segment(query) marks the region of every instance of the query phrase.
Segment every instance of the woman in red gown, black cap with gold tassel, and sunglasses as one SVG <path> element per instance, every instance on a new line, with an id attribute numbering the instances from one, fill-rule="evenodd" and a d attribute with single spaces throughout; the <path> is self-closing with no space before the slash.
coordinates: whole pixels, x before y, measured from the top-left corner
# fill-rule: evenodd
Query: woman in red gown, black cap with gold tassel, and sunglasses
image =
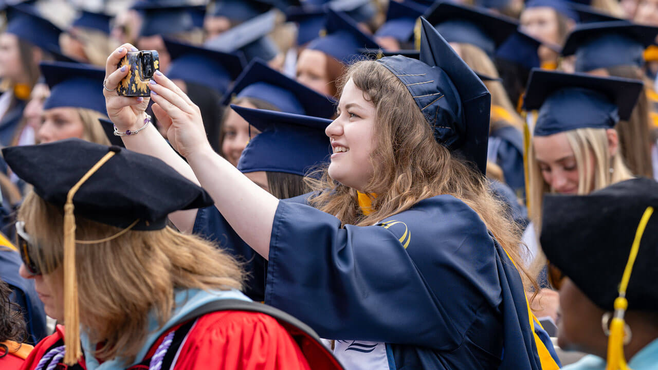
<path id="1" fill-rule="evenodd" d="M 312 330 L 238 291 L 232 257 L 166 226 L 212 199 L 162 161 L 78 139 L 3 156 L 34 186 L 16 223 L 20 273 L 65 325 L 24 369 L 340 369 Z"/>

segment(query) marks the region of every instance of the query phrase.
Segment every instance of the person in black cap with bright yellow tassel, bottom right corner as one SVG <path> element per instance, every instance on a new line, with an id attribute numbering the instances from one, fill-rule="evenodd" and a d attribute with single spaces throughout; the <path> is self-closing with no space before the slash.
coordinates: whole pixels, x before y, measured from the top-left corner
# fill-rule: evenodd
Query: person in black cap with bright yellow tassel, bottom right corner
<path id="1" fill-rule="evenodd" d="M 560 291 L 557 342 L 592 354 L 563 369 L 656 368 L 657 194 L 654 180 L 635 178 L 544 199 L 542 248 Z"/>

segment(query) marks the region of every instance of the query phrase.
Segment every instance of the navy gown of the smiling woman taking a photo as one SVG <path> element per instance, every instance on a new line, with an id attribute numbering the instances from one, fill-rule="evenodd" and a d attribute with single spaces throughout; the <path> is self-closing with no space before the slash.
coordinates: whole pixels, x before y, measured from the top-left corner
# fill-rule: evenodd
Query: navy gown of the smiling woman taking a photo
<path id="1" fill-rule="evenodd" d="M 519 273 L 463 201 L 340 225 L 279 203 L 267 304 L 324 338 L 385 342 L 390 368 L 541 369 Z"/>

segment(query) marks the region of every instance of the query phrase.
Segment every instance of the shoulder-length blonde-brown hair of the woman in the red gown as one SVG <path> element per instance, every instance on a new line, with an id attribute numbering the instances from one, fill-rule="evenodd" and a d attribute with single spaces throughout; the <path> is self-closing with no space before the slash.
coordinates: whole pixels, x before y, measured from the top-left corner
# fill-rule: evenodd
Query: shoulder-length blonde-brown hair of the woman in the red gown
<path id="1" fill-rule="evenodd" d="M 63 284 L 63 209 L 30 192 L 18 209 L 19 221 L 39 246 L 34 259 L 44 273 Z M 76 218 L 76 240 L 99 240 L 119 228 Z M 213 244 L 170 227 L 128 232 L 97 244 L 76 244 L 80 323 L 94 356 L 132 362 L 143 346 L 149 313 L 159 325 L 170 319 L 174 290 L 241 288 L 236 261 Z"/>

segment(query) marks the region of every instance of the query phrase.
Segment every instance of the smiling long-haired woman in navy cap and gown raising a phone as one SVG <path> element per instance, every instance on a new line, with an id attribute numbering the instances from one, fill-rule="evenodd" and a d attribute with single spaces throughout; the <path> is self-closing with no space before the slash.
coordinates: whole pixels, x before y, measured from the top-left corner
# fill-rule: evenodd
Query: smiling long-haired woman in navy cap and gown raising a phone
<path id="1" fill-rule="evenodd" d="M 130 140 L 209 189 L 268 259 L 265 301 L 336 339 L 347 369 L 557 369 L 528 314 L 515 226 L 484 178 L 490 95 L 421 21 L 420 61 L 349 69 L 325 130 L 330 165 L 309 179 L 317 208 L 279 201 L 213 153 L 194 106 L 164 75 L 151 99 L 189 167 L 164 143 L 151 146 L 153 130 Z M 112 87 L 121 74 L 108 72 Z M 118 103 L 108 98 L 111 119 L 130 130 L 132 109 Z"/>

